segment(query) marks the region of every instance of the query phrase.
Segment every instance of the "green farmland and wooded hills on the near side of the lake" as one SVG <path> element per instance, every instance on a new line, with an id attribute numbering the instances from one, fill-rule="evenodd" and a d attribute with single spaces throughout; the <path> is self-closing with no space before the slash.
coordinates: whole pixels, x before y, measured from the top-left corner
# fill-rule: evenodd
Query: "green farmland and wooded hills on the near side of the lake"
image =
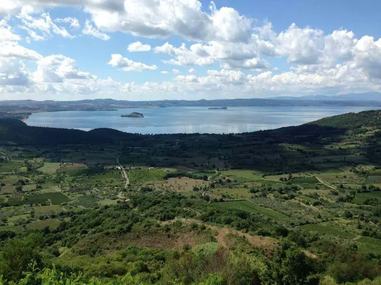
<path id="1" fill-rule="evenodd" d="M 0 284 L 379 285 L 380 116 L 155 136 L 0 119 Z"/>

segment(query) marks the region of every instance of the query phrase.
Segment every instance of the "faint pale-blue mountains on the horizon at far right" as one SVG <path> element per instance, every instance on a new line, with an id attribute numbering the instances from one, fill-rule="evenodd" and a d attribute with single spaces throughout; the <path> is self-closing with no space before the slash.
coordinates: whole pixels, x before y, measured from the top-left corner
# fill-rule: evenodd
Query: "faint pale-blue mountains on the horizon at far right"
<path id="1" fill-rule="evenodd" d="M 271 97 L 273 100 L 303 100 L 303 101 L 381 101 L 381 93 L 365 92 L 365 93 L 348 93 L 343 95 L 307 95 L 301 97 L 277 96 Z"/>

